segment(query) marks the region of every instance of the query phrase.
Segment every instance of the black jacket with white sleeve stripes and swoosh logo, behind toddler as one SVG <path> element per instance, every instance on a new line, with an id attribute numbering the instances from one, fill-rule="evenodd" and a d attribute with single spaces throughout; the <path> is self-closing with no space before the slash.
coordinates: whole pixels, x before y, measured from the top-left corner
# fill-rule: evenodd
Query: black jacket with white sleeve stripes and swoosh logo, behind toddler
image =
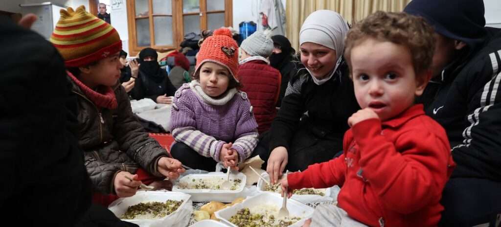
<path id="1" fill-rule="evenodd" d="M 452 177 L 501 181 L 501 30 L 432 80 L 420 101 L 446 130 L 457 167 Z"/>

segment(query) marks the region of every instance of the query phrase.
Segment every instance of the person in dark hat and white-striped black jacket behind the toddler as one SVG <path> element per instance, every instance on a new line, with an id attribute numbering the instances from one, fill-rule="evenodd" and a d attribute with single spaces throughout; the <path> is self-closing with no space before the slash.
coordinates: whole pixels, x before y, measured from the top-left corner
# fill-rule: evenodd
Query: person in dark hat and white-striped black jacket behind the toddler
<path id="1" fill-rule="evenodd" d="M 493 224 L 501 213 L 501 30 L 484 27 L 481 0 L 414 0 L 404 11 L 436 32 L 434 78 L 421 101 L 445 128 L 457 163 L 440 224 Z"/>

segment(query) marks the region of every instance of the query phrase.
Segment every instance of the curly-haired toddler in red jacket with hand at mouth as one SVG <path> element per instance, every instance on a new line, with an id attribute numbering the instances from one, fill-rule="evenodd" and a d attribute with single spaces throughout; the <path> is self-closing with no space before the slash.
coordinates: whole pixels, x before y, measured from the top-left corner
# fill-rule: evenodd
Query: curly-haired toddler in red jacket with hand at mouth
<path id="1" fill-rule="evenodd" d="M 348 119 L 344 152 L 282 180 L 289 191 L 341 186 L 337 205 L 317 206 L 305 226 L 438 223 L 455 165 L 444 129 L 414 104 L 433 50 L 431 27 L 405 13 L 376 12 L 349 31 L 345 57 L 362 109 Z"/>

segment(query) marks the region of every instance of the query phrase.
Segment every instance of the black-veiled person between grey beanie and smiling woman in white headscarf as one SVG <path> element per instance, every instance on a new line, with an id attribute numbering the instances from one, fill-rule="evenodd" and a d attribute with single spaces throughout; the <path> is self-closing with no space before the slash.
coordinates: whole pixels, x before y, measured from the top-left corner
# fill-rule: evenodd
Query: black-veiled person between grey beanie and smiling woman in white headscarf
<path id="1" fill-rule="evenodd" d="M 273 53 L 270 56 L 270 65 L 278 69 L 282 75 L 282 83 L 280 84 L 280 94 L 279 100 L 277 101 L 277 107 L 282 105 L 282 99 L 285 96 L 285 91 L 287 90 L 287 85 L 296 73 L 298 69 L 294 61 L 299 61 L 296 59 L 296 50 L 292 48 L 291 42 L 282 35 L 272 36 L 273 40 Z"/>

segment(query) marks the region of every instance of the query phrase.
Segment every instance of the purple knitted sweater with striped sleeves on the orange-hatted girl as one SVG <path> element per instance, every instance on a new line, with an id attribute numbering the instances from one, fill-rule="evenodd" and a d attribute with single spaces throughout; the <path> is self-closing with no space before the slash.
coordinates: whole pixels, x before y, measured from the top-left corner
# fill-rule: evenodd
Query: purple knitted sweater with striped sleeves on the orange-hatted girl
<path id="1" fill-rule="evenodd" d="M 219 161 L 221 147 L 232 142 L 238 161 L 258 144 L 258 123 L 244 92 L 228 90 L 224 97 L 206 95 L 198 81 L 183 84 L 174 95 L 170 116 L 172 136 L 200 155 Z"/>

